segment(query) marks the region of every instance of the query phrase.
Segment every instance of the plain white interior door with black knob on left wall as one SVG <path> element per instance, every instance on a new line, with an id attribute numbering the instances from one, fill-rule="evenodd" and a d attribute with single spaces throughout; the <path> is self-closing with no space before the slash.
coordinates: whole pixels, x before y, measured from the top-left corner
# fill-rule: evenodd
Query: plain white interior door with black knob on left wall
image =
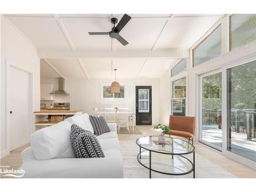
<path id="1" fill-rule="evenodd" d="M 10 68 L 10 151 L 28 143 L 29 74 Z"/>

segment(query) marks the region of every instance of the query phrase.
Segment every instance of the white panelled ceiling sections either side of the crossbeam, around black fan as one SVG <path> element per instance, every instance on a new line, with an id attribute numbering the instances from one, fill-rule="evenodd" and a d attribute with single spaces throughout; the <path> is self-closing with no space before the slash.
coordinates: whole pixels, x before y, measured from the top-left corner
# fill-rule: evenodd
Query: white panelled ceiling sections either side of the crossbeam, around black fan
<path id="1" fill-rule="evenodd" d="M 108 35 L 88 32 L 111 30 L 111 17 L 123 14 L 15 14 L 4 15 L 38 51 L 188 50 L 223 15 L 129 14 L 120 34 L 122 46 Z M 41 77 L 159 78 L 177 58 L 42 58 Z"/>

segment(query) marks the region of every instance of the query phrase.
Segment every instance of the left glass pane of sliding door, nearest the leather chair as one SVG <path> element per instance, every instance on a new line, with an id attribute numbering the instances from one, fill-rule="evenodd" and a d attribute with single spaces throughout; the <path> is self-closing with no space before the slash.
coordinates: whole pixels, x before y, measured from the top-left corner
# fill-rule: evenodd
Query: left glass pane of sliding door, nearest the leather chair
<path id="1" fill-rule="evenodd" d="M 200 138 L 209 146 L 222 147 L 222 73 L 200 76 Z"/>

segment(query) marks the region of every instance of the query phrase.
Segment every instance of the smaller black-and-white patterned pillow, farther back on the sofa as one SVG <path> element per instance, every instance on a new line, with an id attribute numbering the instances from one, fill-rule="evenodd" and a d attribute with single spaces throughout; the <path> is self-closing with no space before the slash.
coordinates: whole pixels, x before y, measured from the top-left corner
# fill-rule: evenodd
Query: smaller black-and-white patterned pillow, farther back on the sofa
<path id="1" fill-rule="evenodd" d="M 100 116 L 100 117 L 94 117 L 90 115 L 90 121 L 93 125 L 93 129 L 94 129 L 94 134 L 95 135 L 101 135 L 103 133 L 108 133 L 110 132 L 110 127 L 108 125 L 108 123 L 106 123 L 105 119 Z"/>

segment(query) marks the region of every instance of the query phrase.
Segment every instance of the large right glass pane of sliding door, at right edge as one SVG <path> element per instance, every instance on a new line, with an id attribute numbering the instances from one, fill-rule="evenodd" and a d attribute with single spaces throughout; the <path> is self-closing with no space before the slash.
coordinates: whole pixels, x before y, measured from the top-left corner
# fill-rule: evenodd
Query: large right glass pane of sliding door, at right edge
<path id="1" fill-rule="evenodd" d="M 227 69 L 227 150 L 256 161 L 256 61 Z"/>

